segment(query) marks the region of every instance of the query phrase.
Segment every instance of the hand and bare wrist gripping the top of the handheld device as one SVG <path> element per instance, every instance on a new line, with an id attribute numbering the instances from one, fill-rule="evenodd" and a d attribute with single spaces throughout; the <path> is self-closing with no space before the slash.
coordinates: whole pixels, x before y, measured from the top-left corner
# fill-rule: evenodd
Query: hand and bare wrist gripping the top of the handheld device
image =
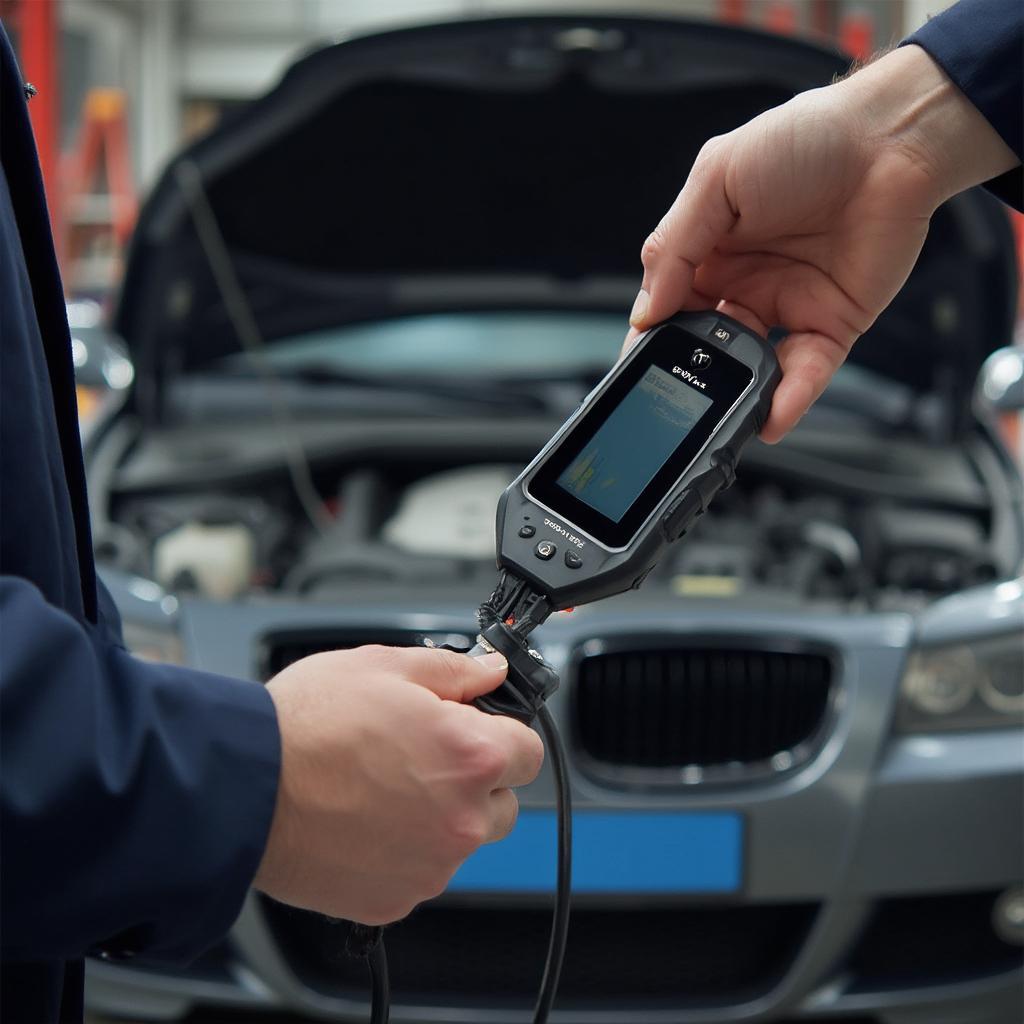
<path id="1" fill-rule="evenodd" d="M 784 327 L 777 441 L 902 287 L 936 207 L 1017 163 L 918 46 L 802 93 L 700 151 L 644 244 L 626 347 L 679 309 Z"/>

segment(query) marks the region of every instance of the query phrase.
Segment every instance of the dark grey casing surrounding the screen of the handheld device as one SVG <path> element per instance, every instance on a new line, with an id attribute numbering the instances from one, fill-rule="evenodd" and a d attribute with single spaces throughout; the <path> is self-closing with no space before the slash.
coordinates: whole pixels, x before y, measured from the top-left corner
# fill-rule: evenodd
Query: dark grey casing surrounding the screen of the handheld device
<path id="1" fill-rule="evenodd" d="M 666 325 L 646 332 L 626 358 L 584 400 L 538 457 L 506 488 L 498 503 L 498 564 L 546 595 L 556 609 L 587 604 L 623 591 L 636 589 L 657 564 L 665 549 L 679 540 L 703 514 L 719 490 L 728 487 L 743 445 L 764 426 L 772 395 L 782 372 L 771 345 L 741 324 L 714 311 L 683 312 L 666 324 L 681 328 L 705 348 L 717 348 L 748 366 L 754 381 L 731 414 L 722 422 L 683 477 L 656 506 L 633 543 L 623 551 L 610 551 L 569 522 L 534 502 L 527 494 L 529 481 L 548 453 L 565 432 L 596 401 L 632 358 L 640 355 L 644 341 Z M 726 343 L 716 337 L 728 338 Z M 548 520 L 548 522 L 546 522 Z M 555 523 L 557 527 L 549 525 Z M 536 532 L 520 537 L 523 526 Z M 583 541 L 580 547 L 569 537 Z M 550 542 L 554 557 L 537 557 L 537 546 Z M 565 553 L 579 556 L 574 568 L 565 563 Z"/>

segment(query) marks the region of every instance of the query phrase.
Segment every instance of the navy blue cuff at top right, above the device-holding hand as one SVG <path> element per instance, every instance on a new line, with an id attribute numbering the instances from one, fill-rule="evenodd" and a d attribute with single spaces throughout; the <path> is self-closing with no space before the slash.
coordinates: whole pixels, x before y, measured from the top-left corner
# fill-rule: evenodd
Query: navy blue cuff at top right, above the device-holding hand
<path id="1" fill-rule="evenodd" d="M 1002 140 L 1024 160 L 1024 0 L 961 0 L 902 45 L 914 43 L 959 87 Z M 1024 170 L 986 187 L 1024 210 Z"/>

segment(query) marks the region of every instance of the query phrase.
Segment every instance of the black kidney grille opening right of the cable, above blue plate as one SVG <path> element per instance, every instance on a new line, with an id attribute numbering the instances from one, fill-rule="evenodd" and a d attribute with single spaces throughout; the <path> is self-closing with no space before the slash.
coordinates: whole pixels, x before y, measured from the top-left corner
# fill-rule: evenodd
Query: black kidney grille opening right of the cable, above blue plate
<path id="1" fill-rule="evenodd" d="M 816 652 L 612 650 L 577 667 L 573 728 L 593 761 L 648 769 L 770 762 L 819 732 L 831 663 Z"/>

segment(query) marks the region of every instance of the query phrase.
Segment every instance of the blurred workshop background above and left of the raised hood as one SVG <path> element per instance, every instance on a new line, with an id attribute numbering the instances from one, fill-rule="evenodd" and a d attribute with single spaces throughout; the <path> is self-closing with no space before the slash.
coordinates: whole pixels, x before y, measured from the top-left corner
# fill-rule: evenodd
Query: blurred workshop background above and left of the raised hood
<path id="1" fill-rule="evenodd" d="M 386 28 L 525 10 L 669 14 L 831 42 L 856 57 L 945 0 L 0 0 L 26 77 L 70 297 L 119 282 L 138 203 L 168 158 L 302 52 Z"/>

